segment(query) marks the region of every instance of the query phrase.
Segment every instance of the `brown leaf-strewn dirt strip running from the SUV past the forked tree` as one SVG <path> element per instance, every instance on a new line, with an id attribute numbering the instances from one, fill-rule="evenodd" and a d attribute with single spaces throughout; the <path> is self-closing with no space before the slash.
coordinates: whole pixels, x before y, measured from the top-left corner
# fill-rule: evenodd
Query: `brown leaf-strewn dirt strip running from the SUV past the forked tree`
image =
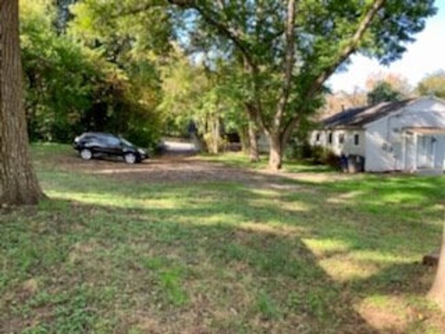
<path id="1" fill-rule="evenodd" d="M 120 159 L 93 159 L 84 161 L 75 153 L 58 156 L 51 164 L 53 168 L 77 170 L 90 175 L 111 177 L 123 181 L 136 182 L 238 182 L 245 185 L 263 186 L 266 188 L 289 189 L 302 185 L 289 184 L 289 180 L 304 183 L 324 183 L 351 179 L 351 175 L 340 173 L 314 172 L 280 172 L 275 174 L 268 170 L 253 170 L 227 166 L 219 162 L 208 162 L 199 157 L 165 155 L 147 159 L 141 164 L 129 165 Z M 354 176 L 357 177 L 357 176 Z"/>

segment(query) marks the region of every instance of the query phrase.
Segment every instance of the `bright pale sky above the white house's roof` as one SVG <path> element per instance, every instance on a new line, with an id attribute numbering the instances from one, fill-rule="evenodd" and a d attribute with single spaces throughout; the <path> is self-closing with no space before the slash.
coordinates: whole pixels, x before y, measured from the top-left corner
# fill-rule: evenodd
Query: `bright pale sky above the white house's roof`
<path id="1" fill-rule="evenodd" d="M 375 60 L 357 55 L 348 71 L 333 75 L 328 84 L 334 91 L 351 92 L 355 86 L 364 88 L 366 79 L 373 73 L 398 73 L 416 86 L 425 75 L 445 70 L 445 0 L 436 0 L 437 14 L 427 19 L 425 29 L 415 36 L 416 42 L 407 45 L 401 60 L 390 66 L 381 66 Z"/>

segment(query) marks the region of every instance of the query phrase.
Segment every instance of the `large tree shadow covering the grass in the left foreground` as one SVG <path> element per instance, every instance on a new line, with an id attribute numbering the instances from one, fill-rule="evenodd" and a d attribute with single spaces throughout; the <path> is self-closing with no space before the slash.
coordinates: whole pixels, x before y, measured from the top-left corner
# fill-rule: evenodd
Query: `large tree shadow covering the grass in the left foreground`
<path id="1" fill-rule="evenodd" d="M 0 332 L 376 333 L 300 238 L 212 209 L 52 199 L 3 216 Z"/>

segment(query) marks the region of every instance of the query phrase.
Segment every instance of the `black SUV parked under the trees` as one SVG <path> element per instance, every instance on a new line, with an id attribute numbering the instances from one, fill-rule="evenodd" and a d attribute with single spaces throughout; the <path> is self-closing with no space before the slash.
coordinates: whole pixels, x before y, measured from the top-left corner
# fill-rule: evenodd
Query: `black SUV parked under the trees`
<path id="1" fill-rule="evenodd" d="M 86 132 L 77 136 L 73 142 L 74 149 L 80 157 L 90 160 L 99 155 L 116 155 L 123 157 L 127 164 L 134 164 L 147 159 L 147 152 L 131 144 L 128 140 L 110 133 Z"/>

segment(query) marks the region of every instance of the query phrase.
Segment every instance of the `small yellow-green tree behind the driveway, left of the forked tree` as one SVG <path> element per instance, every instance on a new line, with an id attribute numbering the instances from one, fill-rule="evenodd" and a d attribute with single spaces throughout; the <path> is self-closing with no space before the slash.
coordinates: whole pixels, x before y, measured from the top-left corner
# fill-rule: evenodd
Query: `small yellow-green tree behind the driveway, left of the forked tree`
<path id="1" fill-rule="evenodd" d="M 181 132 L 192 121 L 202 144 L 211 153 L 223 148 L 223 130 L 239 131 L 242 126 L 240 99 L 227 75 L 231 75 L 231 70 L 225 62 L 216 61 L 212 69 L 202 63 L 192 64 L 177 45 L 162 66 L 160 110 L 166 123 L 170 129 Z"/>

